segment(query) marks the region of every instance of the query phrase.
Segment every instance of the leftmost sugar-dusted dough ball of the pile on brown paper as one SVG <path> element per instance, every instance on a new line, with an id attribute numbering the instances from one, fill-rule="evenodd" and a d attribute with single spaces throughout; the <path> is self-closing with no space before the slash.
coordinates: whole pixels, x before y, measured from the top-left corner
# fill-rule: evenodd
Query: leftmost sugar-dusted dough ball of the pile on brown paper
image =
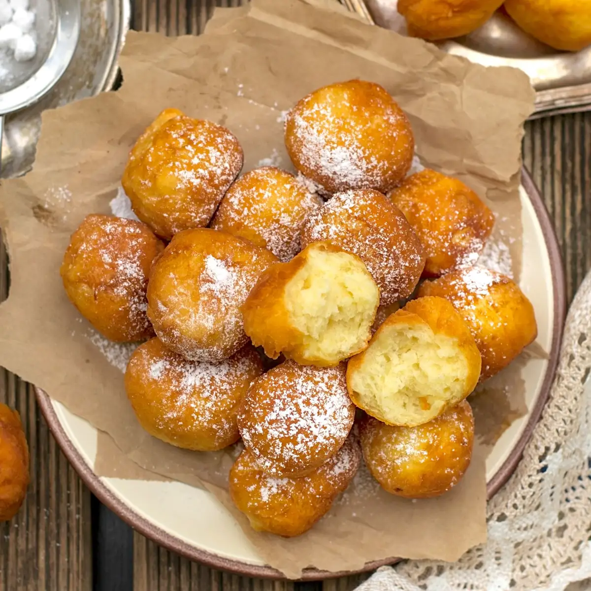
<path id="1" fill-rule="evenodd" d="M 87 216 L 72 234 L 61 264 L 66 294 L 108 339 L 148 339 L 154 335 L 146 316 L 148 273 L 163 249 L 144 223 Z"/>

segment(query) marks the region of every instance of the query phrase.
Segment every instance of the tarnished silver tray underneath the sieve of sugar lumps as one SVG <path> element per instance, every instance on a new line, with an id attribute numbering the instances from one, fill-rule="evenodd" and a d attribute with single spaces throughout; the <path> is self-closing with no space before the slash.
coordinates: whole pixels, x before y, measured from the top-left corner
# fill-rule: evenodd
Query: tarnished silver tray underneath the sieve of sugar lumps
<path id="1" fill-rule="evenodd" d="M 7 118 L 2 177 L 19 176 L 32 167 L 42 111 L 109 90 L 117 79 L 129 29 L 129 0 L 80 0 L 80 12 L 80 37 L 64 75 L 40 102 Z"/>

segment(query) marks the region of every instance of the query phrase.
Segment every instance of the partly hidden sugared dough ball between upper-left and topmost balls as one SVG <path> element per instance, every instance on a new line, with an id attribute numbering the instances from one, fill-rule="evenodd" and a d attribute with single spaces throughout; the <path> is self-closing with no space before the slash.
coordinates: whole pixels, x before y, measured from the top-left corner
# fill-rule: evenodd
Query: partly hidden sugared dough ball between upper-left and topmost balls
<path id="1" fill-rule="evenodd" d="M 264 166 L 232 184 L 211 227 L 247 238 L 280 261 L 289 261 L 300 252 L 300 231 L 307 216 L 322 203 L 293 174 Z"/>

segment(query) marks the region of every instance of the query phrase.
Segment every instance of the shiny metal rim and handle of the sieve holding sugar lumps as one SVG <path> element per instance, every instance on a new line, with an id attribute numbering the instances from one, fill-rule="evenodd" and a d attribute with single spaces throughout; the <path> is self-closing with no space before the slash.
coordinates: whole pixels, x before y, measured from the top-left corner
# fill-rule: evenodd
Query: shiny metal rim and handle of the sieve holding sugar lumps
<path id="1" fill-rule="evenodd" d="M 30 64 L 19 64 L 18 72 L 0 92 L 0 163 L 5 116 L 33 105 L 46 95 L 72 60 L 80 34 L 80 3 L 78 0 L 40 2 L 37 23 L 40 40 L 37 59 Z"/>

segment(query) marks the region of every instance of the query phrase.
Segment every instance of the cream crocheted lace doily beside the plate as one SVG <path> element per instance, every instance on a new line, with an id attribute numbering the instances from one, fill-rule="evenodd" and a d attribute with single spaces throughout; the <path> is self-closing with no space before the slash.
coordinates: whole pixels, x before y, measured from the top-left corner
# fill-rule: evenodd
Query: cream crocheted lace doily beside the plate
<path id="1" fill-rule="evenodd" d="M 540 423 L 517 470 L 489 501 L 487 543 L 457 563 L 384 567 L 359 591 L 563 591 L 591 578 L 590 372 L 591 273 L 569 311 Z"/>

